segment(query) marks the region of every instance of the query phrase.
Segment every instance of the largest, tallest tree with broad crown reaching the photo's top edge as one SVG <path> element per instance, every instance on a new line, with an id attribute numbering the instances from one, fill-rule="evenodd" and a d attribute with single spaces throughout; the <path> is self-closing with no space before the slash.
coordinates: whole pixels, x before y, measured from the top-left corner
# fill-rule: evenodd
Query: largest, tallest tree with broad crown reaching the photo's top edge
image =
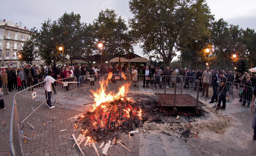
<path id="1" fill-rule="evenodd" d="M 213 15 L 205 0 L 131 0 L 130 9 L 135 43 L 144 55 L 161 55 L 166 66 L 188 40 L 210 35 Z"/>

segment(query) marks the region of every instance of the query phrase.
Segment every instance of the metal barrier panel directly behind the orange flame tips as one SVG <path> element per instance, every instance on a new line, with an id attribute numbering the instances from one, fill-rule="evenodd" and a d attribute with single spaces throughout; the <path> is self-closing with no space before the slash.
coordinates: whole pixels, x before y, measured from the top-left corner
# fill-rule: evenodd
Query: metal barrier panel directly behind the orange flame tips
<path id="1" fill-rule="evenodd" d="M 107 80 L 108 77 L 110 80 L 108 80 L 108 82 L 104 81 L 105 85 L 107 85 L 107 83 L 109 85 L 127 85 L 132 81 L 130 74 L 105 74 L 104 80 Z"/>

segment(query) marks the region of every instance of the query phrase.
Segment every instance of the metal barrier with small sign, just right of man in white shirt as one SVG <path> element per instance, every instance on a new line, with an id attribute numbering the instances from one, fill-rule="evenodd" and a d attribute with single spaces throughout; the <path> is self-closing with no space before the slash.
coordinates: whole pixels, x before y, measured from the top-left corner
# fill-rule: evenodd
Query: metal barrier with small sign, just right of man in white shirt
<path id="1" fill-rule="evenodd" d="M 76 82 L 76 77 L 67 77 L 64 79 L 59 79 L 57 81 L 63 81 L 65 83 L 64 85 L 62 85 L 61 83 L 53 83 L 52 84 L 52 92 L 51 92 L 51 97 L 52 99 L 54 99 L 55 101 L 53 102 L 53 104 L 56 102 L 56 100 L 59 101 L 59 97 L 64 96 L 66 94 L 72 93 L 71 96 L 76 93 L 76 89 L 77 89 L 77 84 L 78 83 L 68 83 L 68 82 Z M 78 95 L 77 95 L 78 96 Z M 59 101 L 60 102 L 60 101 Z M 61 103 L 61 102 L 60 102 Z"/>

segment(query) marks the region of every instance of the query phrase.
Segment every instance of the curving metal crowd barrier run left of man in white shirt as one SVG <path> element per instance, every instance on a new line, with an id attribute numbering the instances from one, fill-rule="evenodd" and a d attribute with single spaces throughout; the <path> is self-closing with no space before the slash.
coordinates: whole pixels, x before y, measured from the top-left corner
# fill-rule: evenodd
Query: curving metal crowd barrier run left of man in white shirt
<path id="1" fill-rule="evenodd" d="M 25 121 L 34 129 L 28 122 L 28 117 L 36 112 L 40 106 L 46 104 L 48 97 L 45 94 L 44 84 L 41 82 L 14 95 L 9 138 L 11 155 L 23 156 L 20 137 L 24 138 L 25 136 L 23 136 L 24 132 L 21 129 L 24 127 Z M 20 128 L 19 124 L 23 124 L 23 126 Z"/>

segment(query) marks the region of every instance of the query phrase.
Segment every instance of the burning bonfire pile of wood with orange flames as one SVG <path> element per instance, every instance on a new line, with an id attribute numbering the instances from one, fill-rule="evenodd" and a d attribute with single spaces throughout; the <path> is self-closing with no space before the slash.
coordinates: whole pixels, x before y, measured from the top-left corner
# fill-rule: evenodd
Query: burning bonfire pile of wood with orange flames
<path id="1" fill-rule="evenodd" d="M 79 116 L 73 125 L 75 129 L 81 128 L 80 133 L 97 141 L 113 139 L 121 130 L 132 130 L 133 123 L 138 125 L 142 120 L 139 103 L 125 97 L 130 84 L 120 87 L 116 94 L 106 93 L 106 86 L 103 82 L 100 84 L 99 90 L 91 90 L 95 104 Z"/>

